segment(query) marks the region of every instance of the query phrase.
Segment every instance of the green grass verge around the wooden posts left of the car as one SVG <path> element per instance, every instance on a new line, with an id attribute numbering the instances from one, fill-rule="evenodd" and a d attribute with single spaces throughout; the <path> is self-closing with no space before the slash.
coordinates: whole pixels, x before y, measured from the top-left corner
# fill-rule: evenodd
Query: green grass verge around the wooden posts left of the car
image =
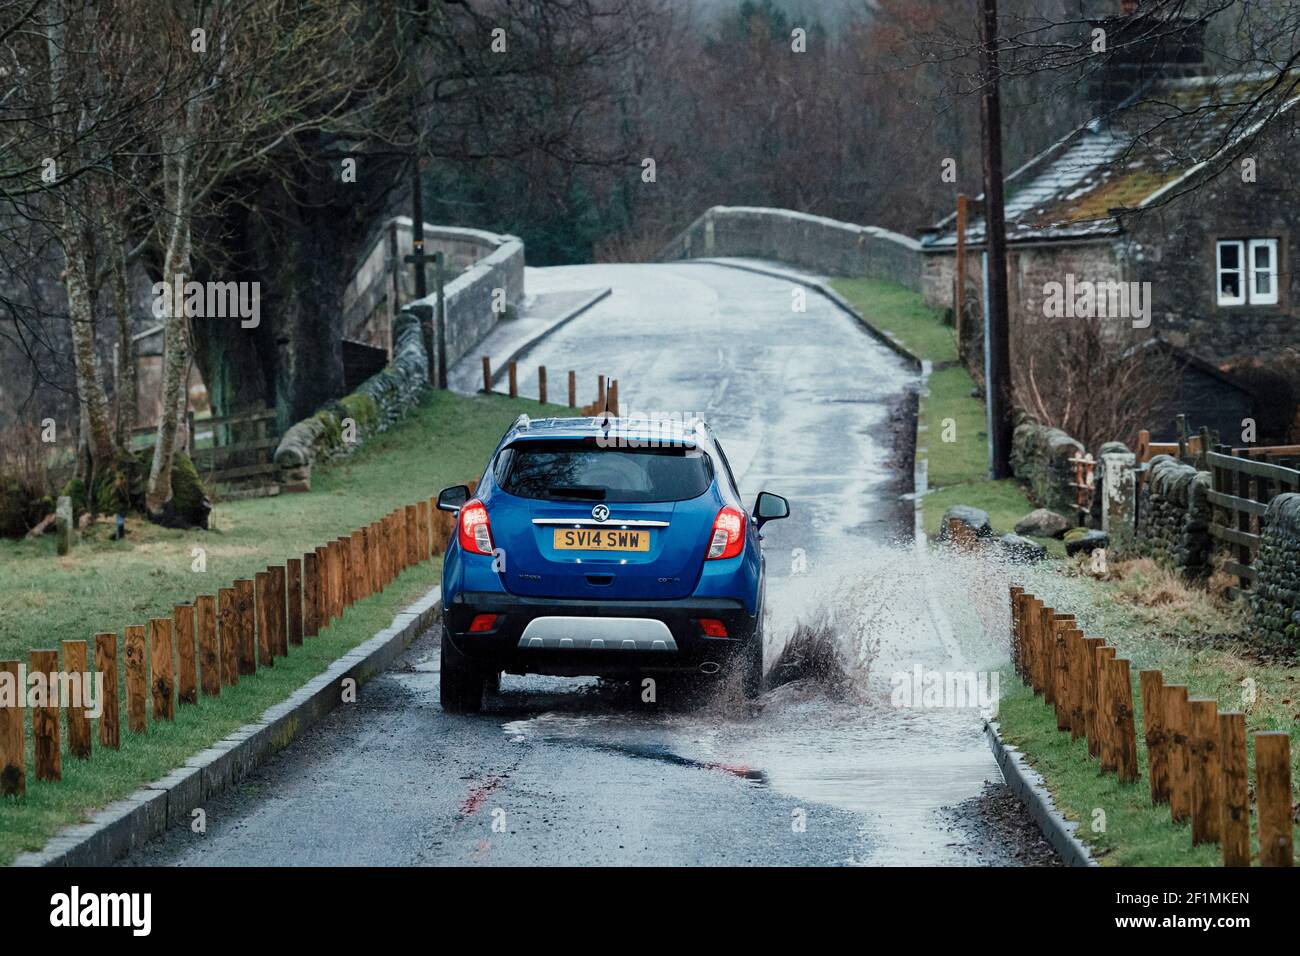
<path id="1" fill-rule="evenodd" d="M 51 540 L 0 542 L 0 658 L 27 659 L 34 648 L 88 640 L 99 631 L 170 617 L 177 604 L 216 593 L 237 578 L 300 555 L 368 524 L 399 505 L 477 477 L 504 429 L 521 412 L 566 414 L 559 406 L 499 395 L 465 398 L 433 393 L 398 425 L 351 458 L 316 468 L 309 494 L 217 505 L 212 531 L 173 531 L 131 522 L 122 541 L 107 527 L 92 529 L 73 551 L 57 557 Z M 196 572 L 194 549 L 205 551 Z M 172 723 L 151 722 L 148 734 L 122 731 L 120 750 L 96 747 L 90 761 L 66 750 L 64 779 L 39 783 L 27 740 L 27 795 L 0 804 L 0 865 L 39 849 L 60 829 L 164 777 L 188 757 L 259 717 L 320 674 L 341 654 L 386 627 L 393 615 L 438 580 L 441 562 L 410 568 L 294 648 L 289 658 L 224 688 L 217 698 L 177 709 Z M 125 652 L 118 643 L 118 659 Z M 125 701 L 125 688 L 120 687 Z M 30 718 L 29 718 L 30 726 Z M 66 727 L 62 740 L 66 744 Z M 98 740 L 96 740 L 98 743 Z"/>

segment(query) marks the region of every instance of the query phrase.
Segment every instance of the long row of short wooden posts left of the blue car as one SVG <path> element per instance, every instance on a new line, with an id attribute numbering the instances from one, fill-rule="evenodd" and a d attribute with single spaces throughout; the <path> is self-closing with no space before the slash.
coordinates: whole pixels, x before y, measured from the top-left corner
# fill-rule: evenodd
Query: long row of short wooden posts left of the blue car
<path id="1" fill-rule="evenodd" d="M 473 489 L 477 483 L 471 481 Z M 304 639 L 317 636 L 358 601 L 384 591 L 407 568 L 446 550 L 455 518 L 437 510 L 437 497 L 390 511 L 377 522 L 329 541 L 300 558 L 272 564 L 216 594 L 177 605 L 170 617 L 126 628 L 122 654 L 117 635 L 95 635 L 94 671 L 87 641 L 62 643 L 58 650 L 32 650 L 31 678 L 46 691 L 31 708 L 36 780 L 62 778 L 62 757 L 90 760 L 91 723 L 81 687 L 104 678 L 99 745 L 120 749 L 122 708 L 126 728 L 143 735 L 150 724 L 173 721 L 178 706 L 203 706 L 239 684 L 240 678 L 273 667 Z M 0 661 L 0 674 L 17 682 L 18 661 Z M 126 696 L 121 700 L 125 680 Z M 25 688 L 12 705 L 0 704 L 0 796 L 27 790 Z M 148 705 L 148 706 L 147 706 Z M 146 713 L 148 710 L 148 714 Z M 66 748 L 60 740 L 60 711 L 66 718 Z M 131 737 L 125 739 L 130 744 Z"/>

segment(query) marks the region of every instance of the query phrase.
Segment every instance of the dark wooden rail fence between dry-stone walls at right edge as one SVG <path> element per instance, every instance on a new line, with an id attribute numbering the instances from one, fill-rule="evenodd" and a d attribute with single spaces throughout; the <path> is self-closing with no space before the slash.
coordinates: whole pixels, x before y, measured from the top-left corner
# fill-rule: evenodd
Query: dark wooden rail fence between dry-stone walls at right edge
<path id="1" fill-rule="evenodd" d="M 1242 451 L 1219 445 L 1205 455 L 1212 479 L 1210 503 L 1219 511 L 1210 523 L 1210 536 L 1232 555 L 1223 562 L 1223 570 L 1236 575 L 1238 587 L 1228 589 L 1234 597 L 1254 585 L 1254 558 L 1269 502 L 1277 494 L 1300 492 L 1300 471 Z"/>

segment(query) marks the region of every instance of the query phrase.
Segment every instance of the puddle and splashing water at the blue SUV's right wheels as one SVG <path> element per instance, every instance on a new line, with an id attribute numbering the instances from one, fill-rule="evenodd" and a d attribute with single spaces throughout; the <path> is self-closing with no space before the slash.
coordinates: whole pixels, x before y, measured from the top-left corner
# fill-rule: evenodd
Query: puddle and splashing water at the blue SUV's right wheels
<path id="1" fill-rule="evenodd" d="M 858 862 L 978 865 L 978 844 L 953 829 L 945 808 L 1001 780 L 979 709 L 892 706 L 890 697 L 896 675 L 918 665 L 924 672 L 996 670 L 1005 648 L 985 635 L 1006 632 L 998 617 L 1006 583 L 1005 570 L 978 559 L 910 548 L 879 548 L 852 566 L 774 578 L 774 609 L 805 609 L 805 622 L 806 609 L 823 609 L 845 663 L 846 693 L 842 684 L 832 696 L 824 684 L 798 680 L 764 693 L 758 708 L 722 700 L 672 713 L 642 710 L 634 693 L 611 689 L 618 685 L 538 685 L 538 678 L 520 685 L 507 676 L 494 704 L 515 711 L 503 723 L 515 740 L 724 770 L 796 800 L 859 813 L 867 852 Z M 800 619 L 768 620 L 770 662 Z M 809 826 L 815 819 L 810 812 Z"/>

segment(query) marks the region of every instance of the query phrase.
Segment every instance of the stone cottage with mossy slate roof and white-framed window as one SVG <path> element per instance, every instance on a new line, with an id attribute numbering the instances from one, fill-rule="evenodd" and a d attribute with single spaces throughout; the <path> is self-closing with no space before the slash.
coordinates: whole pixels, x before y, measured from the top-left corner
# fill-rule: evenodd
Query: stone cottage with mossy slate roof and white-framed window
<path id="1" fill-rule="evenodd" d="M 1258 418 L 1258 441 L 1297 441 L 1300 77 L 1209 75 L 1187 59 L 1145 64 L 1127 90 L 1112 77 L 1105 96 L 1093 91 L 1098 118 L 1008 176 L 1013 362 L 1035 320 L 1062 315 L 1062 290 L 1069 310 L 1075 290 L 1091 284 L 1112 315 L 1148 310 L 1134 328 L 1183 356 L 1174 392 L 1192 397 L 1184 411 L 1193 424 L 1236 444 L 1248 412 Z M 1196 72 L 1170 75 L 1188 70 Z M 976 304 L 978 209 L 976 202 L 966 229 L 967 300 Z M 953 304 L 956 247 L 956 215 L 922 237 L 931 306 Z M 1091 312 L 1098 313 L 1106 315 Z M 1166 427 L 1153 423 L 1156 432 Z"/>

